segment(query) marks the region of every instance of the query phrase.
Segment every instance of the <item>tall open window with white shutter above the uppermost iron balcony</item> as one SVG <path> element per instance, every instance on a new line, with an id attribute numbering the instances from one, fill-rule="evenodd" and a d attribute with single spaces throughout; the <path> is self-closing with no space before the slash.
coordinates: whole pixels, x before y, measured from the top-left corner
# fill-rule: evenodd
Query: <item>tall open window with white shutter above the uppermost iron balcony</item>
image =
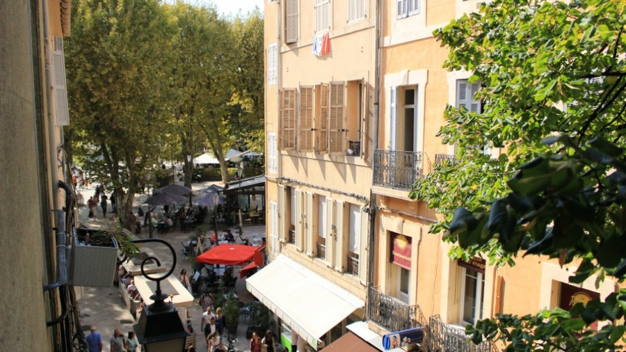
<path id="1" fill-rule="evenodd" d="M 392 87 L 390 150 L 418 152 L 417 86 Z"/>

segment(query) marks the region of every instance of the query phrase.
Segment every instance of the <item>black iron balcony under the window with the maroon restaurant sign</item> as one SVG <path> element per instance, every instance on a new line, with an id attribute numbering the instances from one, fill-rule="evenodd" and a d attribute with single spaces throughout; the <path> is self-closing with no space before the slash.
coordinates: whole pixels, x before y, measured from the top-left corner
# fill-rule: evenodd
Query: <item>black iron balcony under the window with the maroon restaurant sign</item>
<path id="1" fill-rule="evenodd" d="M 387 331 L 399 331 L 426 325 L 419 305 L 408 305 L 370 287 L 367 298 L 367 320 Z"/>

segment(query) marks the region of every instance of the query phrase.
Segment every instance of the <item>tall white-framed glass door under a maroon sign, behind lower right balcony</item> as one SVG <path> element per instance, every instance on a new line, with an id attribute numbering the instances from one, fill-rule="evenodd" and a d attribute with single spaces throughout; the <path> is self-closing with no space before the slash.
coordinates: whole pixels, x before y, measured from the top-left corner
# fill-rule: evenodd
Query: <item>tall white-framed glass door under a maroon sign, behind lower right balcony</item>
<path id="1" fill-rule="evenodd" d="M 485 275 L 479 271 L 463 268 L 461 287 L 461 321 L 474 325 L 483 316 L 483 291 Z"/>

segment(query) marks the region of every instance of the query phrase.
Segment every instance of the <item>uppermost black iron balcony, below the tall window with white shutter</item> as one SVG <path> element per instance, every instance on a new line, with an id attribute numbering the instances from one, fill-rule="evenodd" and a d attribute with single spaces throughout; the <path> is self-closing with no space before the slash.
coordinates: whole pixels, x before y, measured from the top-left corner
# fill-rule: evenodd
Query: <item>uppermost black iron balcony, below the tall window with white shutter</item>
<path id="1" fill-rule="evenodd" d="M 422 152 L 374 150 L 374 186 L 409 190 L 422 177 Z"/>

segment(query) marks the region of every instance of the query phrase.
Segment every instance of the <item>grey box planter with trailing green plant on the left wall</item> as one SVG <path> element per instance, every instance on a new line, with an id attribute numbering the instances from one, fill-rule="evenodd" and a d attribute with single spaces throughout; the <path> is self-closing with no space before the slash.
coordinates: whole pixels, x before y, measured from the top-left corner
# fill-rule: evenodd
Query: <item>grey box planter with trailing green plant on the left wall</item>
<path id="1" fill-rule="evenodd" d="M 77 228 L 72 243 L 72 285 L 113 286 L 118 250 L 126 257 L 139 253 L 139 247 L 121 226 L 109 230 Z"/>

